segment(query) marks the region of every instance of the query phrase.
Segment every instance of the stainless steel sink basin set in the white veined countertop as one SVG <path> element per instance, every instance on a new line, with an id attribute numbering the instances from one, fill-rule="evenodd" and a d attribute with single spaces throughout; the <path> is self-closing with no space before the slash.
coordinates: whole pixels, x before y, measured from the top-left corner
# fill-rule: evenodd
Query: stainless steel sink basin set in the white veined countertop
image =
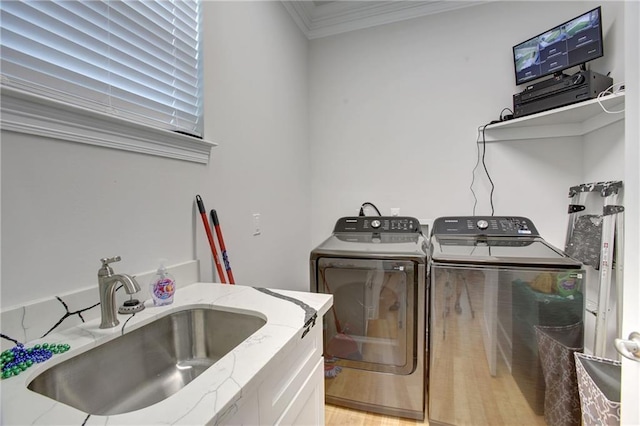
<path id="1" fill-rule="evenodd" d="M 51 367 L 28 388 L 88 414 L 128 413 L 178 392 L 264 324 L 210 308 L 174 312 Z"/>

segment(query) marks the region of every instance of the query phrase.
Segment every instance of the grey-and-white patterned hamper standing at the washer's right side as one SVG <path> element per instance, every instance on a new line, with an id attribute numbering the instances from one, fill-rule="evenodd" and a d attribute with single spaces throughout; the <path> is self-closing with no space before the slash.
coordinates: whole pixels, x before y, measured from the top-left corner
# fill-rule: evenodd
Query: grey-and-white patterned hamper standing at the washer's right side
<path id="1" fill-rule="evenodd" d="M 584 426 L 620 424 L 621 363 L 576 352 Z"/>

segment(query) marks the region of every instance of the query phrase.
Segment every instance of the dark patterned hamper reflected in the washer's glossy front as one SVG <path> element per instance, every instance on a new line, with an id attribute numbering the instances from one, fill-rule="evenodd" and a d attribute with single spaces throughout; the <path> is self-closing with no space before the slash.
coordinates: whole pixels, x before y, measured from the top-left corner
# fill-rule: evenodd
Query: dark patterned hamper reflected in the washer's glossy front
<path id="1" fill-rule="evenodd" d="M 544 420 L 553 426 L 580 426 L 574 353 L 584 348 L 583 322 L 534 328 L 545 382 Z"/>

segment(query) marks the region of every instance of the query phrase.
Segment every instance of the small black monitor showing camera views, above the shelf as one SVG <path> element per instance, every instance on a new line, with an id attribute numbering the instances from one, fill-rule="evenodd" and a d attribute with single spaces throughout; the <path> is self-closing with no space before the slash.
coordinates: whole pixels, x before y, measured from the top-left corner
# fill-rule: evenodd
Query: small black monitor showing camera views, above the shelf
<path id="1" fill-rule="evenodd" d="M 600 7 L 513 46 L 516 85 L 525 84 L 601 57 Z"/>

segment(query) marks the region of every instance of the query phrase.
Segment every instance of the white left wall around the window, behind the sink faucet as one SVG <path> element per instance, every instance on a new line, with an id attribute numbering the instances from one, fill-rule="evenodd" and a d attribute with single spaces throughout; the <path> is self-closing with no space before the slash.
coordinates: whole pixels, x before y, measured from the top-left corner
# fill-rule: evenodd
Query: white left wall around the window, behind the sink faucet
<path id="1" fill-rule="evenodd" d="M 2 309 L 97 297 L 105 256 L 124 273 L 200 258 L 211 280 L 196 194 L 218 210 L 237 283 L 308 288 L 306 39 L 279 2 L 207 2 L 204 27 L 206 136 L 220 144 L 207 166 L 2 132 Z"/>

